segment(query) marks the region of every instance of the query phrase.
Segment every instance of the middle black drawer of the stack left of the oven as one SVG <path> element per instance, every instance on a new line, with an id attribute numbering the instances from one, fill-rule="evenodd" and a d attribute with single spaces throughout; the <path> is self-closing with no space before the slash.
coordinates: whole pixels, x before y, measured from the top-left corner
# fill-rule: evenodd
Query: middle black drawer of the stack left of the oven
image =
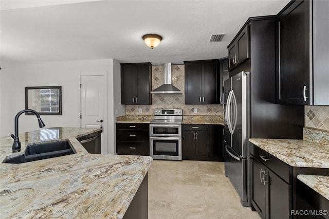
<path id="1" fill-rule="evenodd" d="M 117 130 L 118 141 L 149 141 L 148 130 Z"/>

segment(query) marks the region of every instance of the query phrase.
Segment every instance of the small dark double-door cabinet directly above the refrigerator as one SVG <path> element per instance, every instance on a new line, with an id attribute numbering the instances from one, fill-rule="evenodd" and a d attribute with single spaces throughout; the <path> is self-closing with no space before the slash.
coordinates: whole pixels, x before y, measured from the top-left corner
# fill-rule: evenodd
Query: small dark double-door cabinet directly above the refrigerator
<path id="1" fill-rule="evenodd" d="M 249 58 L 248 27 L 243 28 L 228 45 L 229 70 Z"/>

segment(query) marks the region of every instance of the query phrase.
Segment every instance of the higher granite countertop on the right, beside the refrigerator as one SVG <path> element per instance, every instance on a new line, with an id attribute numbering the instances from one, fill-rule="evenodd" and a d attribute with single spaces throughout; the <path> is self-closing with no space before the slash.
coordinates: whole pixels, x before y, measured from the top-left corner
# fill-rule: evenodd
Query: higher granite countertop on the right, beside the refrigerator
<path id="1" fill-rule="evenodd" d="M 329 168 L 329 145 L 296 139 L 249 141 L 292 167 Z"/>

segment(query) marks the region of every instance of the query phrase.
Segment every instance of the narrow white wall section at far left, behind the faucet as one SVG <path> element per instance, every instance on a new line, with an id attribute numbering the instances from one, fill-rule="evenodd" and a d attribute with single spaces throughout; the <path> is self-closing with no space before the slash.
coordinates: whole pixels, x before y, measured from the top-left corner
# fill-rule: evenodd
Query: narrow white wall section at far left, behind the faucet
<path id="1" fill-rule="evenodd" d="M 1 60 L 0 70 L 0 136 L 14 133 L 15 66 Z"/>

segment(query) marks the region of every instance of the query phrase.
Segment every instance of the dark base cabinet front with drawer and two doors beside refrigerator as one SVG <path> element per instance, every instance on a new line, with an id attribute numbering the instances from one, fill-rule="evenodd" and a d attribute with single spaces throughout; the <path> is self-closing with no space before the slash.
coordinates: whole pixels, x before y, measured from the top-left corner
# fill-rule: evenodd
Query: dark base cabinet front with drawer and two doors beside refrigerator
<path id="1" fill-rule="evenodd" d="M 262 218 L 291 218 L 292 191 L 289 184 L 291 168 L 258 148 L 253 148 L 251 153 L 252 207 Z"/>

